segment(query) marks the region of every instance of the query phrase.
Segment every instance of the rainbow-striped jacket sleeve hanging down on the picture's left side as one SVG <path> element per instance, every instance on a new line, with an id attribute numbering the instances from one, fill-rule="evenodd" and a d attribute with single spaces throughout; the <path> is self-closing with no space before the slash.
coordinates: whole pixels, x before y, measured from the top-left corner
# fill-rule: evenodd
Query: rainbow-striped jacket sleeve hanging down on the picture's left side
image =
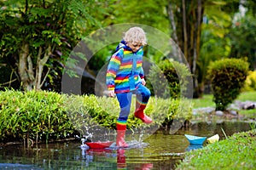
<path id="1" fill-rule="evenodd" d="M 108 90 L 114 90 L 115 88 L 114 79 L 116 77 L 117 72 L 119 71 L 123 54 L 124 50 L 123 48 L 120 48 L 116 53 L 112 55 L 111 59 L 109 60 L 106 75 L 106 83 Z"/>

